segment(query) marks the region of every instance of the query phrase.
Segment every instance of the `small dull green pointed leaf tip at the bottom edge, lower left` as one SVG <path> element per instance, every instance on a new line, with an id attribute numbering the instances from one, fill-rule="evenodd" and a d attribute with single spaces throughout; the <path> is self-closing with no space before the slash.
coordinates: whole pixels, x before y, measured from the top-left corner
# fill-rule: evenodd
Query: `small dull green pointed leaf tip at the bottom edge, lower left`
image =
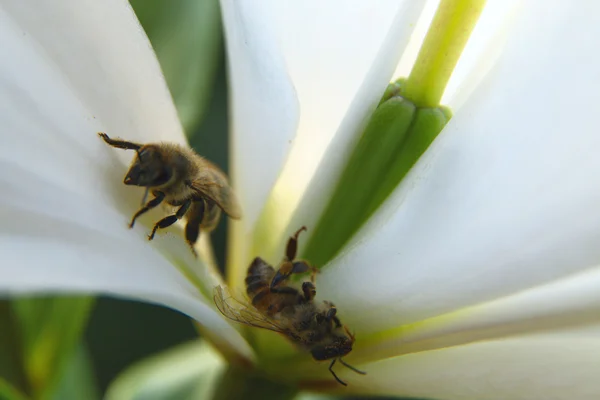
<path id="1" fill-rule="evenodd" d="M 53 400 L 68 399 L 100 399 L 100 394 L 94 379 L 94 370 L 89 353 L 80 344 L 71 355 L 62 373 L 57 389 L 52 395 Z"/>

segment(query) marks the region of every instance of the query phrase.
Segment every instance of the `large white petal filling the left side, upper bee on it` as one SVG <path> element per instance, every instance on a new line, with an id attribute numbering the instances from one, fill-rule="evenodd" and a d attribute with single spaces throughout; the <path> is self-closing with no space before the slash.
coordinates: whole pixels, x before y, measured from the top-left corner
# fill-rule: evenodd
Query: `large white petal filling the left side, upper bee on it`
<path id="1" fill-rule="evenodd" d="M 169 119 L 158 110 L 173 107 L 128 4 L 73 1 L 25 9 L 18 2 L 0 8 L 0 293 L 102 292 L 163 304 L 251 356 L 245 340 L 201 296 L 199 288 L 212 290 L 214 281 L 183 240 L 157 237 L 152 246 L 142 224 L 127 229 L 141 191 L 121 183 L 119 152 L 96 132 L 110 127 L 128 138 L 179 137 L 174 111 Z M 107 20 L 133 39 L 98 35 Z M 124 62 L 127 51 L 139 58 Z M 134 71 L 141 78 L 130 82 Z M 137 85 L 141 93 L 128 92 Z M 109 94 L 118 99 L 111 103 Z M 152 99 L 136 101 L 139 95 Z M 157 130 L 161 126 L 166 129 Z M 197 276 L 186 277 L 177 266 Z M 190 279 L 200 277 L 207 278 L 204 286 L 194 286 Z"/>

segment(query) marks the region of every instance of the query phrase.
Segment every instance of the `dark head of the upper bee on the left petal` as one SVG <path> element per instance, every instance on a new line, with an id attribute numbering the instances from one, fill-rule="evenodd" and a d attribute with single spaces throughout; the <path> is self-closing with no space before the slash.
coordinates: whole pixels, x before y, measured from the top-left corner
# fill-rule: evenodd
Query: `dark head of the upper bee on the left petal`
<path id="1" fill-rule="evenodd" d="M 153 187 L 169 181 L 171 172 L 162 159 L 159 149 L 152 145 L 137 150 L 123 183 L 126 185 Z"/>

